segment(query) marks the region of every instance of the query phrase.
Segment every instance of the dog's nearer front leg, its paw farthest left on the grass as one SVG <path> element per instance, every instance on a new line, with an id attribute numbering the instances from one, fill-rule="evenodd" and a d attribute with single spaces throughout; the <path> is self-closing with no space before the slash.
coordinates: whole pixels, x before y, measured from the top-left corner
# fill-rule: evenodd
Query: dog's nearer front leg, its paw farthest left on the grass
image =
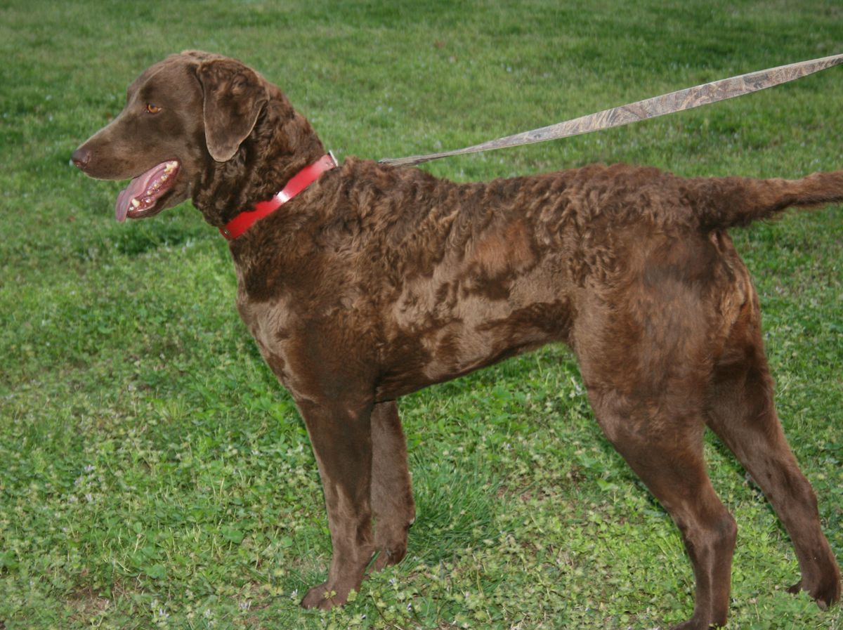
<path id="1" fill-rule="evenodd" d="M 372 401 L 299 401 L 314 448 L 328 508 L 333 556 L 328 579 L 302 606 L 342 606 L 360 588 L 375 545 L 372 533 Z"/>

